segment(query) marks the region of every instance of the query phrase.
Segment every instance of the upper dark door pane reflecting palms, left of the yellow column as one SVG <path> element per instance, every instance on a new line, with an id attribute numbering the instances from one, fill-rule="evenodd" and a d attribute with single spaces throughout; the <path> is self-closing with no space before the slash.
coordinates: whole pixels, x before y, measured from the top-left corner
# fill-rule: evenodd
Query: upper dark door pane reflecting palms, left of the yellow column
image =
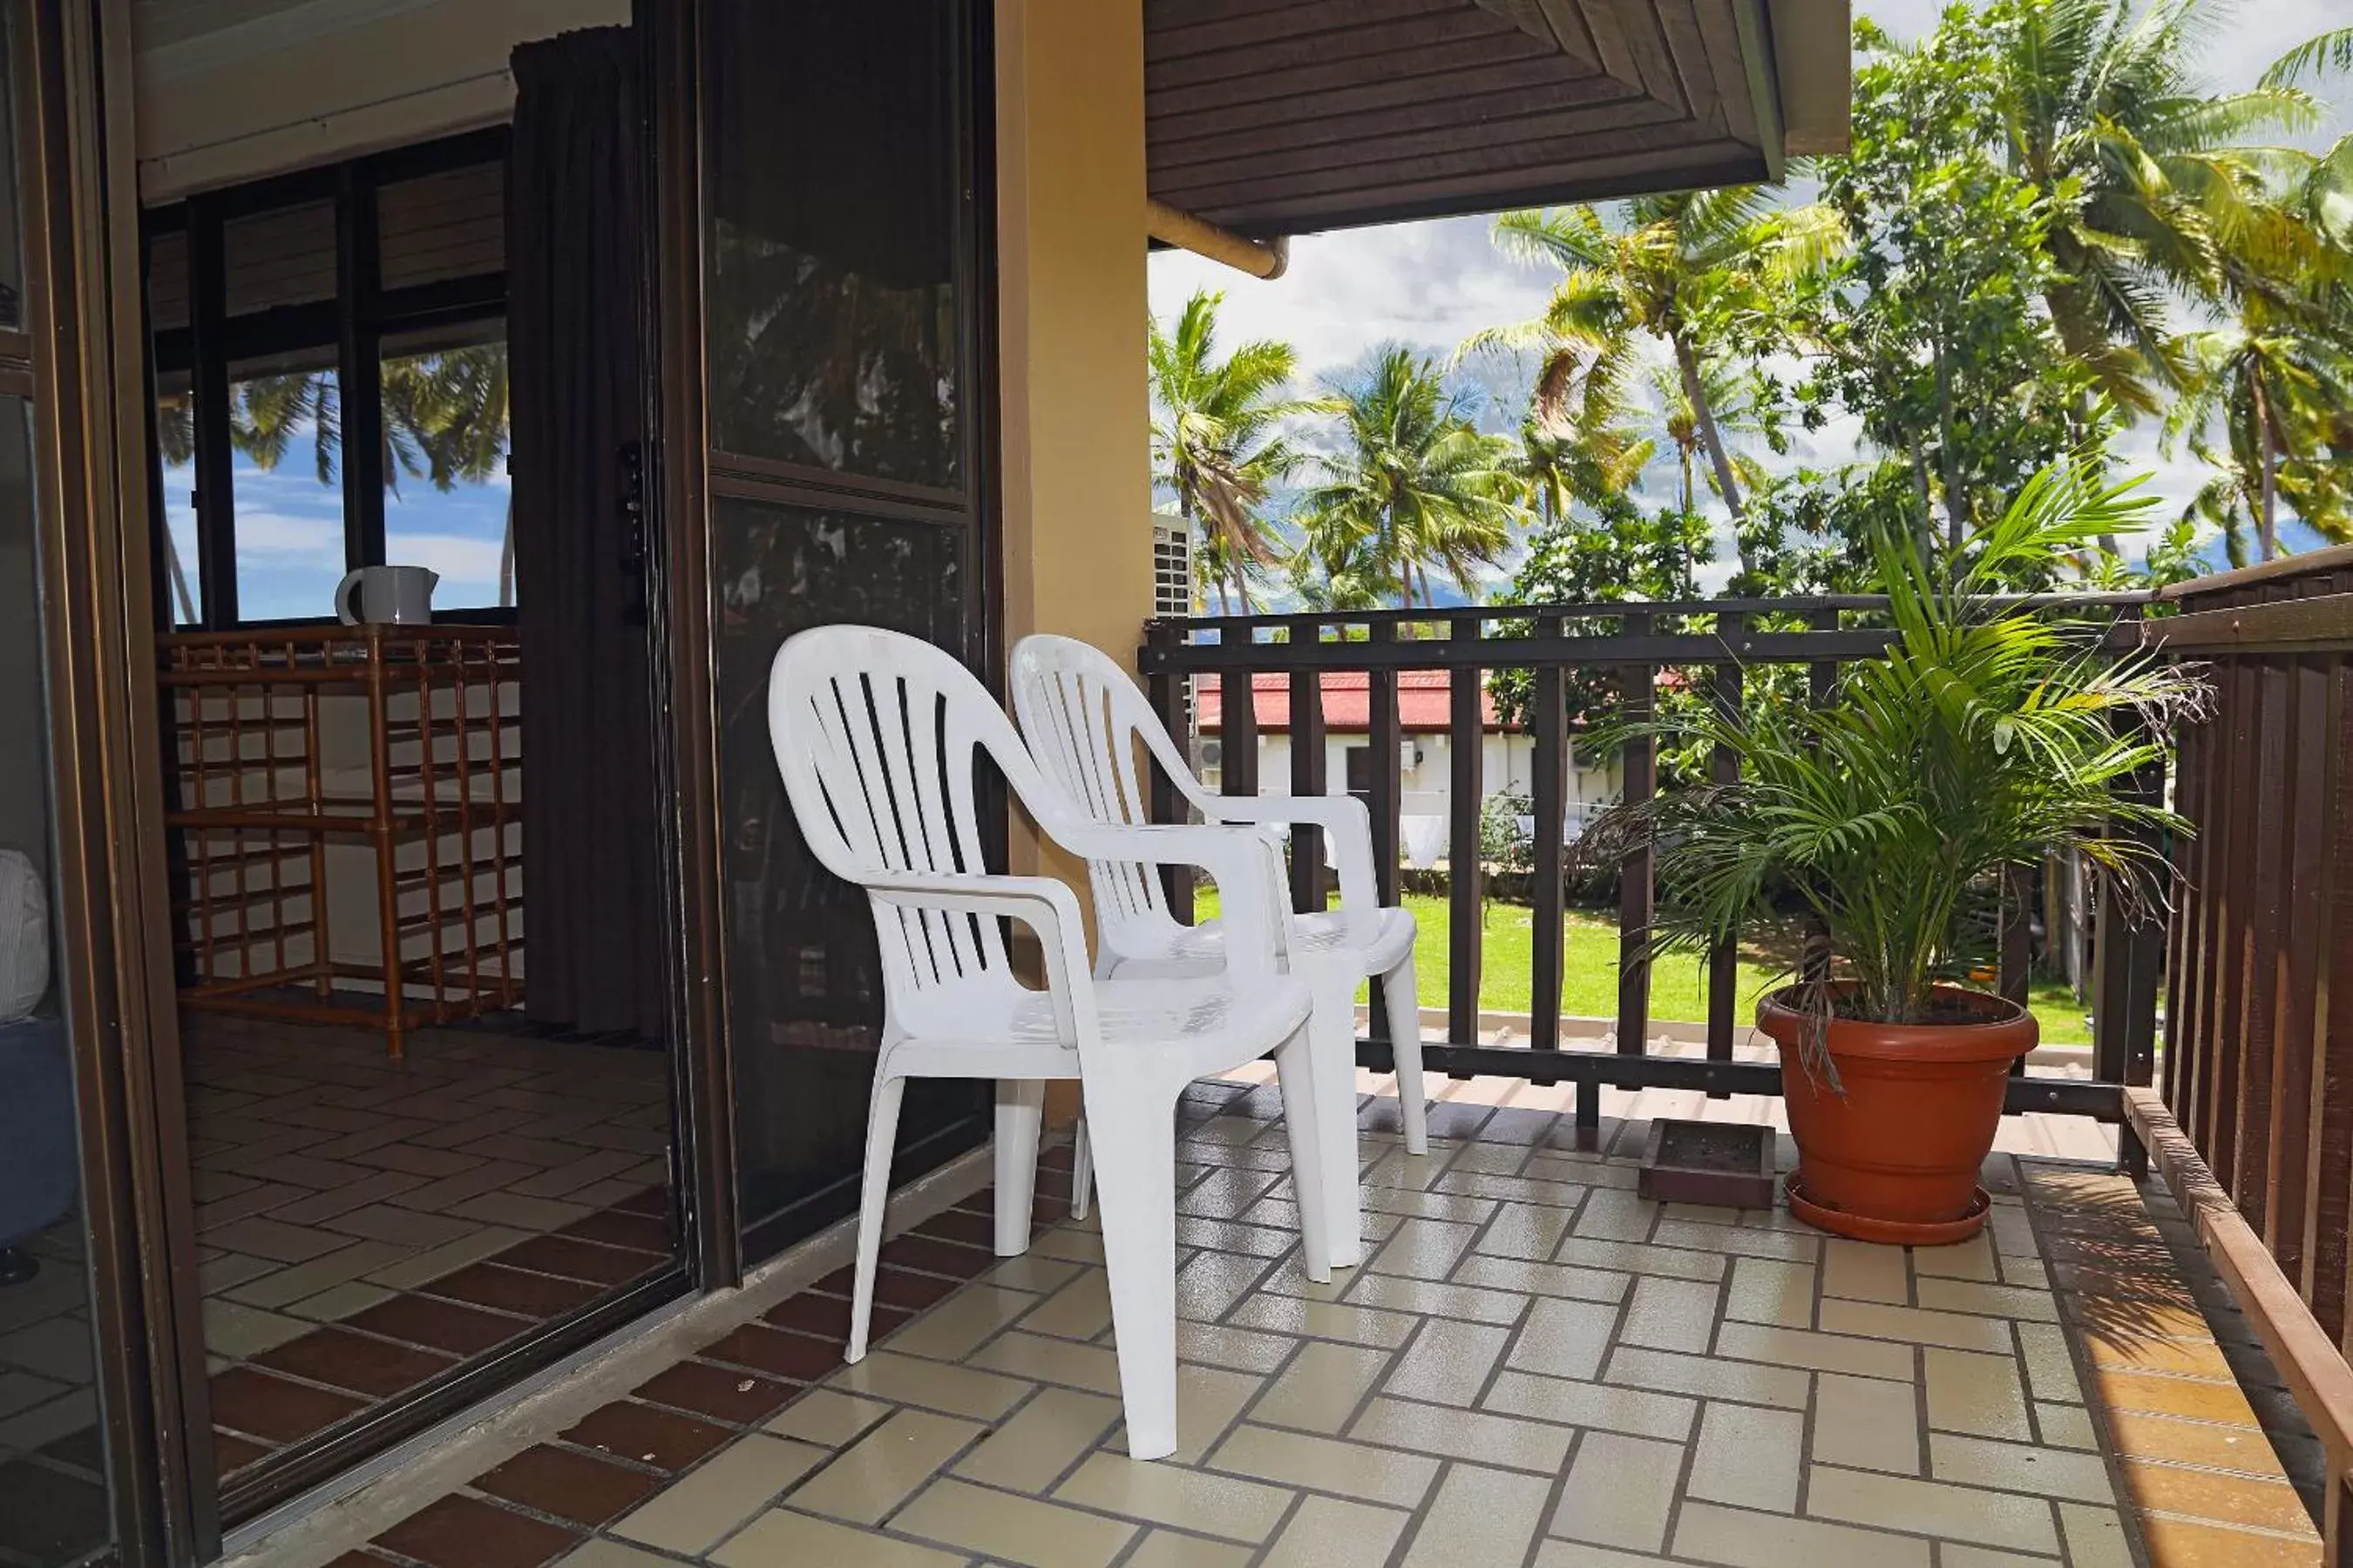
<path id="1" fill-rule="evenodd" d="M 713 9 L 713 444 L 962 484 L 958 38 L 936 0 Z"/>

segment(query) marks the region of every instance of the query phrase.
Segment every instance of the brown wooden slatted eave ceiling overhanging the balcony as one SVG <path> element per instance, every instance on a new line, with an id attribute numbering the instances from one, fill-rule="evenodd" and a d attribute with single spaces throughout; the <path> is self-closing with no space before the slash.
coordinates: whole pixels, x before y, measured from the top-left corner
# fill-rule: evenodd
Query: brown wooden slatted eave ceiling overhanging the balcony
<path id="1" fill-rule="evenodd" d="M 1151 193 L 1245 235 L 1779 179 L 1847 0 L 1146 0 Z"/>

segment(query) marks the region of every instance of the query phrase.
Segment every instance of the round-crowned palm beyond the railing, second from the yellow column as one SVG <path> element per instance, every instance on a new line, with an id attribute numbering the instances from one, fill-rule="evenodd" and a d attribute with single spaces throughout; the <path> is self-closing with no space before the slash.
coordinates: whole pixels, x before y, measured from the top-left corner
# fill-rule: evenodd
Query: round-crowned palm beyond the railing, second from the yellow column
<path id="1" fill-rule="evenodd" d="M 1339 451 L 1318 458 L 1322 482 L 1301 496 L 1301 564 L 1322 567 L 1334 592 L 1377 583 L 1405 607 L 1438 602 L 1433 567 L 1475 592 L 1473 567 L 1494 564 L 1525 517 L 1511 440 L 1480 435 L 1438 367 L 1402 343 L 1332 386 L 1329 409 Z"/>

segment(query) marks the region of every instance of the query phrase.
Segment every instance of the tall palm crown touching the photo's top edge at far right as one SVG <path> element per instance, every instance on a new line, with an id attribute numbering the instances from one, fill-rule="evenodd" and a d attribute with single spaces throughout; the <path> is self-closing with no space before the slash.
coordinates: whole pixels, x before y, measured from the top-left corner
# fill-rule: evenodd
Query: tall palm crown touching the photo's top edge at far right
<path id="1" fill-rule="evenodd" d="M 2209 94 L 2198 80 L 2217 12 L 2205 0 L 2028 0 L 2007 31 L 2009 158 L 2052 202 L 2045 294 L 2068 355 L 2120 407 L 2153 411 L 2193 367 L 2172 336 L 2177 296 L 2261 292 L 2235 240 L 2266 223 L 2275 150 L 2252 139 L 2318 122 L 2287 80 Z"/>

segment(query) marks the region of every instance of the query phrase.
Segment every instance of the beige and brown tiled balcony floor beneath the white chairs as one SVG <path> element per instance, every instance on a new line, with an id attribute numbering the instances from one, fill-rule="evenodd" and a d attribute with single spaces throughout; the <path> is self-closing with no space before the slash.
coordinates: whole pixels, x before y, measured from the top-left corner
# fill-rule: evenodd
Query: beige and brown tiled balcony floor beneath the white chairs
<path id="1" fill-rule="evenodd" d="M 1904 1253 L 1638 1199 L 1640 1119 L 1454 1098 L 1412 1159 L 1374 1098 L 1372 1251 L 1311 1286 L 1271 1112 L 1186 1103 L 1174 1460 L 1122 1453 L 1049 1171 L 1024 1258 L 986 1192 L 887 1248 L 861 1366 L 833 1274 L 341 1568 L 2318 1561 L 2242 1328 L 2122 1178 L 1995 1154 L 1991 1229 Z"/>

